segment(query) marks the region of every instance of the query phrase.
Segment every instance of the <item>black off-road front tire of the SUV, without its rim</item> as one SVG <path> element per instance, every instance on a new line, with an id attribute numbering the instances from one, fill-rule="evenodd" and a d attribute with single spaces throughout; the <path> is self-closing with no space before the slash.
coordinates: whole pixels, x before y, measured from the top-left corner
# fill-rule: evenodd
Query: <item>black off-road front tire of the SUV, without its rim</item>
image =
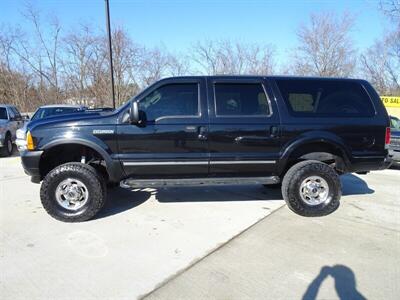
<path id="1" fill-rule="evenodd" d="M 73 212 L 62 207 L 55 196 L 58 184 L 67 178 L 82 181 L 89 193 L 87 202 Z M 107 188 L 102 176 L 93 167 L 77 162 L 66 163 L 51 170 L 40 188 L 40 199 L 47 213 L 63 222 L 83 222 L 93 218 L 104 206 L 106 198 Z"/>

